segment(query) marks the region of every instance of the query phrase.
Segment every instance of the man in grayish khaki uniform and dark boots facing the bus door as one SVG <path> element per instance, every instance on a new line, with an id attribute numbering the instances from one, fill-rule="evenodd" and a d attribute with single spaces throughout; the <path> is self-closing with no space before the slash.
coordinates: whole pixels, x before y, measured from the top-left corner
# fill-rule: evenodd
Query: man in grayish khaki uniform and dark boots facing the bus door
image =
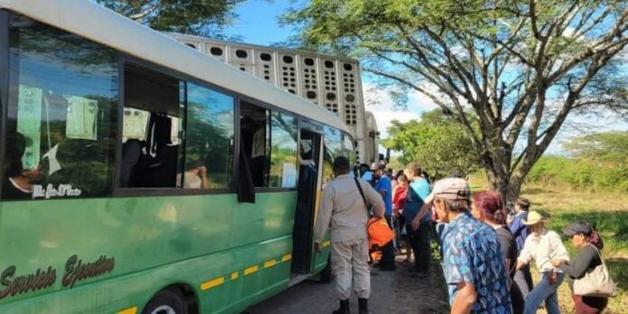
<path id="1" fill-rule="evenodd" d="M 374 207 L 374 216 L 383 217 L 383 200 L 368 182 L 349 176 L 349 169 L 349 160 L 346 157 L 341 156 L 334 160 L 335 178 L 323 189 L 319 216 L 314 227 L 314 249 L 320 253 L 320 244 L 329 228 L 331 267 L 340 300 L 340 308 L 334 314 L 349 314 L 352 281 L 358 298 L 359 313 L 367 314 L 371 274 L 366 235 L 368 209 L 365 203 Z"/>

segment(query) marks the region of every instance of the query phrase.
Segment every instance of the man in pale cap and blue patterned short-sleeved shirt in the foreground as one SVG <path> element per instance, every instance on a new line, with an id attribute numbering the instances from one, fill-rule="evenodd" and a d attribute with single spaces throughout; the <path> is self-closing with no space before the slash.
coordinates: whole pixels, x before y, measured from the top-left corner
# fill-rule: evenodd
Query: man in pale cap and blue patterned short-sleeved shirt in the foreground
<path id="1" fill-rule="evenodd" d="M 451 313 L 512 313 L 508 272 L 492 227 L 469 213 L 466 180 L 448 178 L 434 185 L 428 201 L 444 223 L 443 270 Z"/>

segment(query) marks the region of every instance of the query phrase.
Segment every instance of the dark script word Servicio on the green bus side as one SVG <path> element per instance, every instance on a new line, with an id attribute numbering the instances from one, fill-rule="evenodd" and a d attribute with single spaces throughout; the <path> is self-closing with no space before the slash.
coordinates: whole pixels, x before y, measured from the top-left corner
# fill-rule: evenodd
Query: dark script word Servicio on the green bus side
<path id="1" fill-rule="evenodd" d="M 28 291 L 38 291 L 50 287 L 57 280 L 57 271 L 48 266 L 48 270 L 14 277 L 16 272 L 15 266 L 9 266 L 0 275 L 0 284 L 4 288 L 0 288 L 0 300 L 7 296 L 14 297 L 17 294 L 26 293 Z"/>

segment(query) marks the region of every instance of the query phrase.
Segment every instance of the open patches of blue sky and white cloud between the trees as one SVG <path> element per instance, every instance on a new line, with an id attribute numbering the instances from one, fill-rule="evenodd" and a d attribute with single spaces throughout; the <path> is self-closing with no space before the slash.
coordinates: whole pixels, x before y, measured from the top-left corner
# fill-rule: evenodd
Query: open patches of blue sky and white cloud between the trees
<path id="1" fill-rule="evenodd" d="M 227 34 L 238 35 L 242 42 L 260 45 L 271 45 L 274 42 L 282 42 L 294 33 L 291 26 L 281 27 L 277 23 L 277 17 L 286 12 L 292 6 L 291 0 L 260 1 L 249 0 L 236 7 L 238 18 L 235 23 L 226 29 Z M 374 113 L 381 137 L 387 135 L 386 129 L 391 125 L 392 119 L 402 122 L 411 119 L 419 119 L 420 113 L 436 108 L 429 98 L 419 93 L 411 93 L 408 108 L 404 111 L 393 109 L 392 100 L 381 88 L 374 88 L 369 79 L 363 76 L 363 90 L 365 100 L 369 104 L 366 110 Z M 560 147 L 564 139 L 584 134 L 586 132 L 602 132 L 609 130 L 628 130 L 628 123 L 617 121 L 614 116 L 572 116 L 568 119 L 568 127 L 565 127 L 554 142 L 550 145 L 548 153 L 563 153 Z"/>

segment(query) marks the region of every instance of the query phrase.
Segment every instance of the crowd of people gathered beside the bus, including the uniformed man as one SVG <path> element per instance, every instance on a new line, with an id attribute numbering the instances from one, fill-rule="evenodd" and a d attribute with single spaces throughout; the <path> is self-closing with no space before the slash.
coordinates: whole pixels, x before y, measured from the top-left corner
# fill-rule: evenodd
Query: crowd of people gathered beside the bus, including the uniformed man
<path id="1" fill-rule="evenodd" d="M 541 307 L 560 313 L 557 292 L 565 276 L 584 281 L 587 273 L 605 267 L 602 240 L 588 223 L 575 222 L 562 230 L 578 249 L 570 259 L 559 234 L 547 228 L 548 217 L 530 210 L 530 200 L 516 199 L 508 210 L 499 193 L 472 193 L 460 175 L 432 183 L 417 163 L 396 174 L 380 162 L 351 171 L 344 157 L 334 162 L 334 174 L 323 190 L 315 248 L 320 252 L 329 229 L 340 300 L 336 314 L 349 313 L 352 281 L 359 313 L 368 313 L 368 251 L 374 249 L 367 247 L 369 215 L 385 218 L 395 233 L 388 245 L 378 247 L 382 271 L 395 271 L 395 254 L 405 254 L 405 262 L 413 261 L 412 276 L 429 277 L 440 271 L 430 269 L 430 241 L 439 245 L 452 313 L 529 314 Z M 532 262 L 540 275 L 536 282 Z M 608 302 L 604 293 L 572 291 L 577 313 L 600 313 Z"/>

